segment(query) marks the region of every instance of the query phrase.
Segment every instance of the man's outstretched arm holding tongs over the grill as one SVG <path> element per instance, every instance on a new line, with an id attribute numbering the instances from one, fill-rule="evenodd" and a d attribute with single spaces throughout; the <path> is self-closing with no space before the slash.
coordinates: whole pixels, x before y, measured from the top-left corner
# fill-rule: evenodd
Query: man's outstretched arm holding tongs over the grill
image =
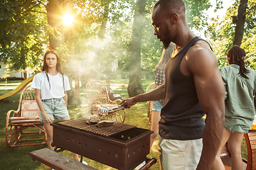
<path id="1" fill-rule="evenodd" d="M 164 98 L 164 84 L 161 86 L 158 86 L 156 89 L 149 91 L 146 94 L 139 94 L 137 96 L 134 96 L 133 98 L 124 99 L 119 106 L 124 108 L 130 108 L 131 106 L 134 106 L 134 104 L 138 102 L 144 102 L 144 101 L 159 101 Z"/>

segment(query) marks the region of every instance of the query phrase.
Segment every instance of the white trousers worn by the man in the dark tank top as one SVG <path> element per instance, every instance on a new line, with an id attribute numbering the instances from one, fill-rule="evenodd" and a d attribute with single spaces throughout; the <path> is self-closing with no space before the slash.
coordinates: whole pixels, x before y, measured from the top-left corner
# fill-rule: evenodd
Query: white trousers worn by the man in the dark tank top
<path id="1" fill-rule="evenodd" d="M 203 140 L 165 140 L 159 135 L 162 170 L 195 170 L 201 157 Z"/>

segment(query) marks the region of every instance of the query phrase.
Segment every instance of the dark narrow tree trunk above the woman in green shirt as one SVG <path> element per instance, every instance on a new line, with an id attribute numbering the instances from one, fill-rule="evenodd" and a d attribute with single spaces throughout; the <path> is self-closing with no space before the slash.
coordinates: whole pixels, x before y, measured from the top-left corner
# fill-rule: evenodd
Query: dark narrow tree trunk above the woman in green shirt
<path id="1" fill-rule="evenodd" d="M 240 0 L 240 5 L 238 7 L 238 21 L 235 27 L 235 38 L 233 45 L 240 46 L 242 43 L 242 34 L 245 25 L 245 11 L 247 8 L 247 1 L 248 0 Z"/>

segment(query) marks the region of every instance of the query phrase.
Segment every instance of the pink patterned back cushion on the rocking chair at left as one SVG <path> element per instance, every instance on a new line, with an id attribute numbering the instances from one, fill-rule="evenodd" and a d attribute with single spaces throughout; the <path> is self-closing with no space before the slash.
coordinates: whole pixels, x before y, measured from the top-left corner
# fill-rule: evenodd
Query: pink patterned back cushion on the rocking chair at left
<path id="1" fill-rule="evenodd" d="M 21 101 L 21 117 L 34 117 L 39 115 L 39 108 L 34 101 Z"/>

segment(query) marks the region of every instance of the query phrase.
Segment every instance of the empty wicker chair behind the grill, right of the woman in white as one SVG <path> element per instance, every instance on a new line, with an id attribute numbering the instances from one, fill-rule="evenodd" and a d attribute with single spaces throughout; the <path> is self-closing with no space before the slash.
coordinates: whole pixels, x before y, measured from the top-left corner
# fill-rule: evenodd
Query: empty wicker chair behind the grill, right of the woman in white
<path id="1" fill-rule="evenodd" d="M 95 79 L 88 81 L 85 85 L 85 91 L 87 100 L 89 101 L 89 111 L 92 115 L 97 114 L 101 118 L 124 123 L 126 114 L 125 109 L 119 108 L 114 111 L 109 111 L 107 115 L 99 114 L 100 106 L 118 106 L 118 104 L 121 102 L 120 99 L 114 101 L 110 100 L 109 94 L 107 93 L 107 88 L 102 81 Z"/>

